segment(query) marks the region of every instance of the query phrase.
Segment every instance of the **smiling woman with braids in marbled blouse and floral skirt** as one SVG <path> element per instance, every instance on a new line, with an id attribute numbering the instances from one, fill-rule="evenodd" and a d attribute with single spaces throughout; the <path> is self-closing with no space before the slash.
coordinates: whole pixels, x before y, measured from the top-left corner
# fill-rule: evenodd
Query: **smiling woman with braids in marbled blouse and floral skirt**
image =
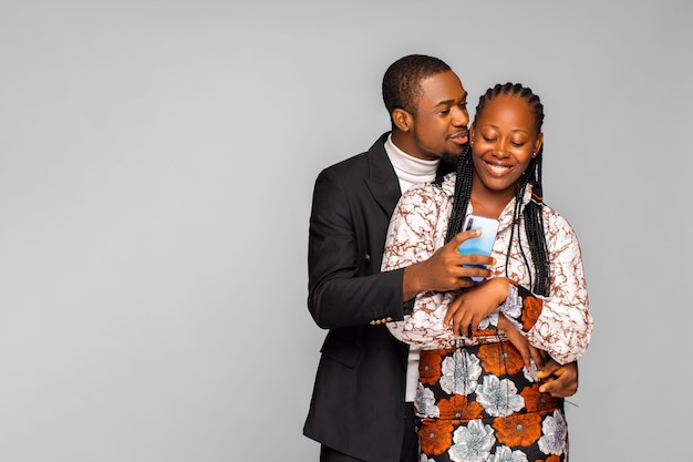
<path id="1" fill-rule="evenodd" d="M 400 340 L 422 348 L 422 461 L 567 460 L 562 399 L 539 391 L 536 363 L 527 368 L 497 328 L 499 318 L 514 324 L 560 363 L 580 358 L 591 336 L 578 239 L 542 203 L 542 122 L 530 89 L 489 89 L 457 171 L 410 189 L 392 217 L 383 270 L 428 258 L 469 213 L 500 222 L 492 278 L 458 298 L 422 294 L 412 315 L 389 324 Z"/>

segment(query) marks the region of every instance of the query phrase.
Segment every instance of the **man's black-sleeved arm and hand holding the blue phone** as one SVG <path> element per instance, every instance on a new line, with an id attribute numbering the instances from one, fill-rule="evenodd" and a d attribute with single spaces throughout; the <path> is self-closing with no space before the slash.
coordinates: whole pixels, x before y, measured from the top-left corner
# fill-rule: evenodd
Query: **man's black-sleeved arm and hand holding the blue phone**
<path id="1" fill-rule="evenodd" d="M 423 261 L 386 268 L 380 258 L 366 255 L 369 246 L 382 248 L 390 219 L 379 205 L 360 223 L 353 214 L 365 214 L 370 203 L 335 172 L 323 172 L 316 181 L 310 217 L 308 307 L 322 328 L 383 324 L 404 317 L 403 302 L 424 290 L 453 290 L 475 284 L 472 276 L 488 277 L 493 258 L 459 255 L 457 247 L 476 230 L 461 233 Z M 355 212 L 354 212 L 355 211 Z M 372 250 L 375 254 L 374 249 Z M 415 259 L 416 260 L 416 259 Z"/>

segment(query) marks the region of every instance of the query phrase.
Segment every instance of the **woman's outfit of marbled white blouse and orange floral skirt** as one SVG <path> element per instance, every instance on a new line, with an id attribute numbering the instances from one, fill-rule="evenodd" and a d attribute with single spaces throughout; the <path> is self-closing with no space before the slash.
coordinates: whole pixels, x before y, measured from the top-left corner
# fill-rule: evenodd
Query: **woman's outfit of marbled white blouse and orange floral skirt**
<path id="1" fill-rule="evenodd" d="M 454 185 L 455 176 L 448 175 L 442 186 L 417 185 L 402 196 L 390 224 L 383 270 L 427 259 L 445 244 Z M 528 188 L 524 201 L 530 197 Z M 536 366 L 527 370 L 496 326 L 503 312 L 556 361 L 580 358 L 592 329 L 580 248 L 568 222 L 544 206 L 550 294 L 535 296 L 526 288 L 531 285 L 531 256 L 519 250 L 529 248 L 524 227 L 511 232 L 514 207 L 515 199 L 499 217 L 496 265 L 489 268 L 514 284 L 506 302 L 484 319 L 480 330 L 470 338 L 455 337 L 443 325 L 457 292 L 420 294 L 411 315 L 387 325 L 397 339 L 421 349 L 415 408 L 422 462 L 567 460 L 563 400 L 539 392 Z"/>

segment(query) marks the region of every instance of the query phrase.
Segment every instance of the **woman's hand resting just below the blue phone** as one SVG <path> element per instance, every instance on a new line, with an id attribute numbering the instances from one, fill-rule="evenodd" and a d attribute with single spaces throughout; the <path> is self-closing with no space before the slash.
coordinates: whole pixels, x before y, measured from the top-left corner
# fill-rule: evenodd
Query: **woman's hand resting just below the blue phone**
<path id="1" fill-rule="evenodd" d="M 447 308 L 444 326 L 451 326 L 456 336 L 472 337 L 482 320 L 505 302 L 508 297 L 508 278 L 485 280 L 459 294 Z"/>

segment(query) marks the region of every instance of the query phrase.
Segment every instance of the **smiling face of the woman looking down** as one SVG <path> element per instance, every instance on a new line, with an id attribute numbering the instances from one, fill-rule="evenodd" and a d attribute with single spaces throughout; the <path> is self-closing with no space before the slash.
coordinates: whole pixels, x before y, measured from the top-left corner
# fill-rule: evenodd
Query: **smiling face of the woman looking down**
<path id="1" fill-rule="evenodd" d="M 498 95 L 477 114 L 469 138 L 474 187 L 513 197 L 544 135 L 537 133 L 535 116 L 525 100 Z"/>

